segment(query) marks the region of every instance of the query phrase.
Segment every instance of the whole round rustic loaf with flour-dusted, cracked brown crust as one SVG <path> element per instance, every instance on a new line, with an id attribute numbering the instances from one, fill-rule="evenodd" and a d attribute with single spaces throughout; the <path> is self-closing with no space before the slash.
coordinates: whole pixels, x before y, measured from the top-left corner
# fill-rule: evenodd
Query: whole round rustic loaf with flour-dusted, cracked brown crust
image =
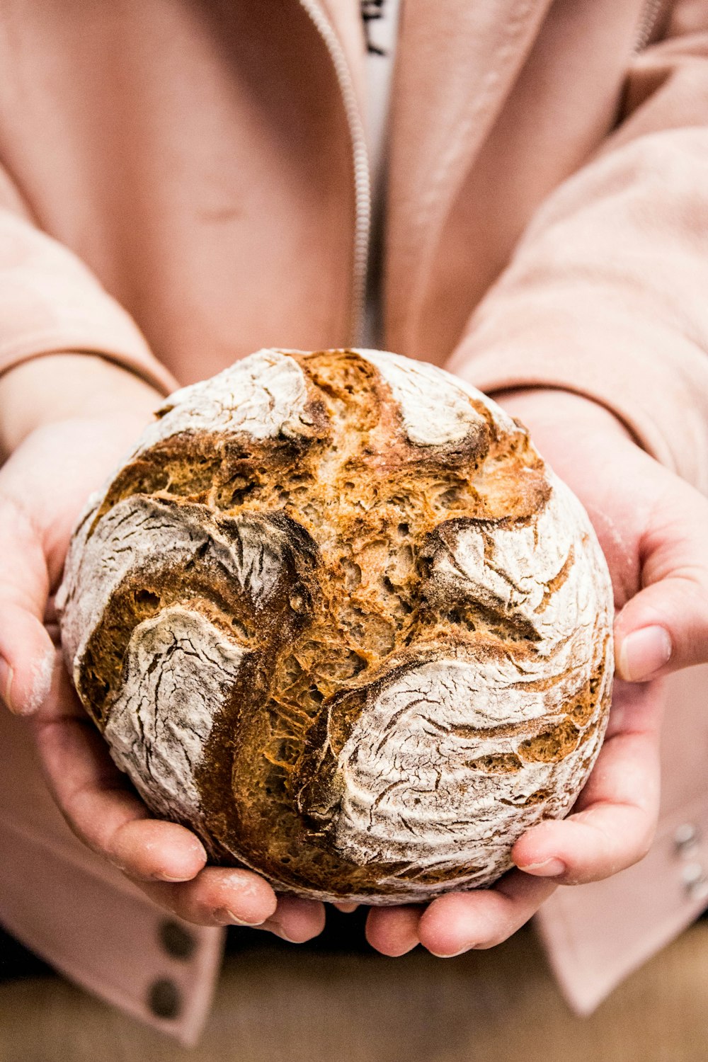
<path id="1" fill-rule="evenodd" d="M 485 886 L 602 742 L 612 594 L 522 427 L 374 350 L 175 392 L 75 530 L 82 702 L 213 861 L 325 900 Z"/>

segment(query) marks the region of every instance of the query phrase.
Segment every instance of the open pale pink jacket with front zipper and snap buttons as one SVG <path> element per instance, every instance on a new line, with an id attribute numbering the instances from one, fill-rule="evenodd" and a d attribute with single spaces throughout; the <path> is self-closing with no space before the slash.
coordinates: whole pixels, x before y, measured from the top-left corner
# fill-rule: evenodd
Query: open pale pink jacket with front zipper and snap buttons
<path id="1" fill-rule="evenodd" d="M 355 0 L 5 0 L 0 367 L 85 350 L 166 392 L 262 345 L 356 339 L 368 190 Z M 616 411 L 708 491 L 708 2 L 405 0 L 385 346 Z M 637 867 L 538 922 L 587 1011 L 708 903 L 706 669 L 671 682 Z M 0 714 L 0 918 L 193 1042 L 222 930 L 69 833 Z"/>

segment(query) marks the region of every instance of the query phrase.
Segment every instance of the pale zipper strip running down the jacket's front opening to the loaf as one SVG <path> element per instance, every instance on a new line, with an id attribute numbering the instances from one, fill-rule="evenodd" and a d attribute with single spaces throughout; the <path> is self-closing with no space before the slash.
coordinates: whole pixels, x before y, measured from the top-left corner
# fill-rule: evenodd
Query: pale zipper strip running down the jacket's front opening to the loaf
<path id="1" fill-rule="evenodd" d="M 325 42 L 334 67 L 334 73 L 342 93 L 353 162 L 355 185 L 355 236 L 353 269 L 351 277 L 351 316 L 349 322 L 350 343 L 357 345 L 364 320 L 364 298 L 366 292 L 366 264 L 372 229 L 372 178 L 368 162 L 366 135 L 361 120 L 357 96 L 351 80 L 351 71 L 339 37 L 329 23 L 317 0 L 298 0 L 303 10 Z"/>

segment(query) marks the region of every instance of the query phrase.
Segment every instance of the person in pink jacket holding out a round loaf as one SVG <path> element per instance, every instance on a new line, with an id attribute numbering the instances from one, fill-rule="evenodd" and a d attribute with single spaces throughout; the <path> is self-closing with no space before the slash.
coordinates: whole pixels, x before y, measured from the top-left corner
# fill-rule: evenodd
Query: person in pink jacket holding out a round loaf
<path id="1" fill-rule="evenodd" d="M 53 593 L 87 495 L 165 394 L 260 346 L 361 336 L 364 42 L 353 0 L 11 0 L 2 17 L 0 917 L 187 1041 L 217 927 L 304 941 L 324 908 L 206 866 L 150 817 L 71 692 Z M 573 813 L 525 834 L 489 890 L 373 909 L 383 954 L 488 947 L 540 909 L 556 965 L 576 923 L 611 980 L 707 902 L 695 696 L 670 700 L 659 830 L 685 829 L 691 889 L 666 886 L 663 840 L 643 913 L 617 876 L 656 832 L 664 676 L 708 662 L 707 49 L 695 0 L 402 5 L 377 341 L 491 394 L 575 490 L 612 575 L 620 681 Z M 203 928 L 180 952 L 184 923 Z M 607 991 L 564 969 L 579 1009 Z"/>

